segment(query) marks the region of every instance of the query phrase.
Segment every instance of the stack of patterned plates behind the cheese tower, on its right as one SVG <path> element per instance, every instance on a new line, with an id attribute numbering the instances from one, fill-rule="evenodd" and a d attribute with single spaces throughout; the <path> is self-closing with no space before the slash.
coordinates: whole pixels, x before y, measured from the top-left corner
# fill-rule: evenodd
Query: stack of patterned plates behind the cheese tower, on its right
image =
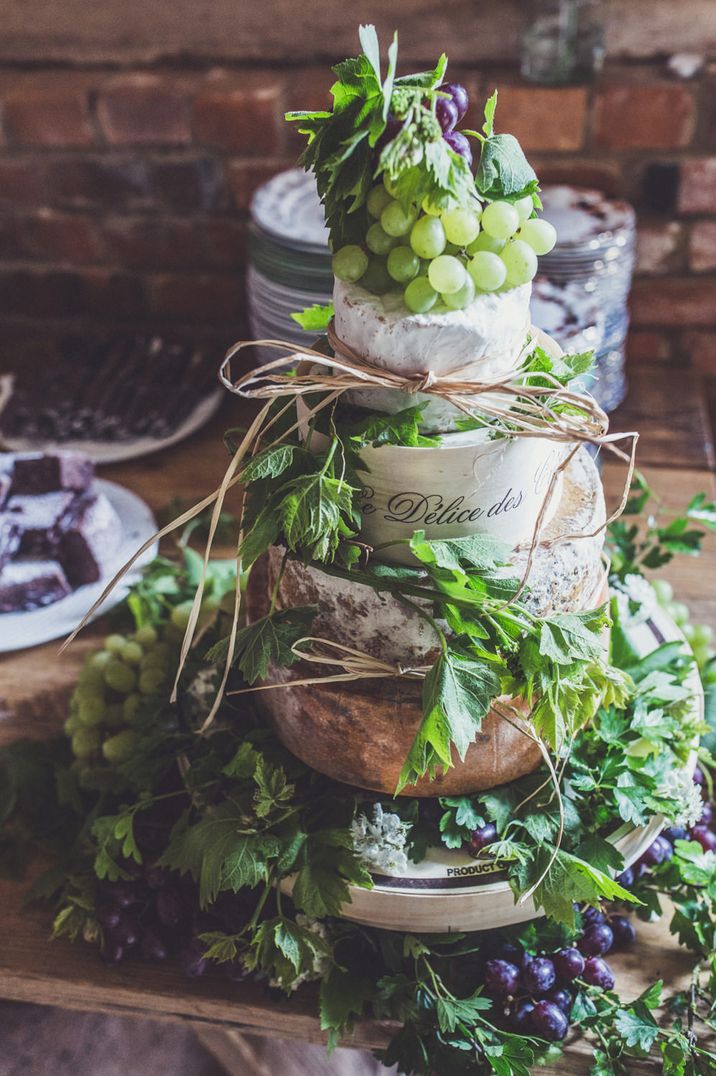
<path id="1" fill-rule="evenodd" d="M 551 254 L 539 259 L 539 269 L 553 284 L 577 285 L 599 303 L 603 335 L 596 349 L 593 392 L 610 411 L 627 392 L 624 343 L 636 243 L 634 210 L 596 190 L 568 186 L 546 187 L 542 200 L 545 217 L 560 238 Z"/>

